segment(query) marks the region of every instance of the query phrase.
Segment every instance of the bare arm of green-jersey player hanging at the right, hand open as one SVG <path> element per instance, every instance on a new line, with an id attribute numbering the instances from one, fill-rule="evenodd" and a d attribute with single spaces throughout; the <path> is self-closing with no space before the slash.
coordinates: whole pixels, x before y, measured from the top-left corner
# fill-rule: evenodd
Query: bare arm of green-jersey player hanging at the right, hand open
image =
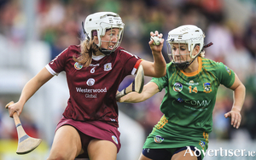
<path id="1" fill-rule="evenodd" d="M 243 105 L 246 88 L 241 83 L 240 79 L 235 74 L 235 82 L 230 87 L 230 89 L 234 90 L 234 102 L 231 111 L 224 114 L 224 117 L 231 117 L 231 125 L 234 128 L 238 129 L 241 123 L 241 107 Z"/>

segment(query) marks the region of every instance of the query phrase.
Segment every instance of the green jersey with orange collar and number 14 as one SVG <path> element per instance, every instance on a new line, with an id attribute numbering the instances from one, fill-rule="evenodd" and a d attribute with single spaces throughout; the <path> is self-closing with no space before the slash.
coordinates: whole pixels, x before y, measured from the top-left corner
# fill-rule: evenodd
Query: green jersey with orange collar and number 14
<path id="1" fill-rule="evenodd" d="M 166 94 L 160 105 L 164 113 L 154 126 L 143 148 L 177 148 L 196 146 L 207 149 L 212 131 L 212 110 L 218 86 L 230 88 L 235 73 L 223 63 L 198 57 L 198 71 L 185 73 L 174 64 L 167 64 L 166 76 L 152 78 Z"/>

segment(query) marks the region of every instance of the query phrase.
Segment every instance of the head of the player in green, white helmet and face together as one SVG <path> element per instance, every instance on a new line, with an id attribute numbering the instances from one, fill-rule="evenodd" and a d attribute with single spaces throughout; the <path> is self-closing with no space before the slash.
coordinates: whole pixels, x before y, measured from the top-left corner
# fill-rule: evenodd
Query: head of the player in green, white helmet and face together
<path id="1" fill-rule="evenodd" d="M 187 68 L 201 54 L 204 37 L 201 29 L 192 25 L 179 26 L 169 31 L 166 40 L 167 53 L 172 63 L 181 70 Z M 198 54 L 193 55 L 195 45 L 200 45 L 200 49 Z"/>

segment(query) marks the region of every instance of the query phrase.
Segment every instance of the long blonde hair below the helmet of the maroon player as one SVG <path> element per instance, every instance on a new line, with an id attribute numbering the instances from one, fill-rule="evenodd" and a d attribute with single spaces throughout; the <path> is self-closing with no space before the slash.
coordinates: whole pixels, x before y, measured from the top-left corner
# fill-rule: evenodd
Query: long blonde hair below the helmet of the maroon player
<path id="1" fill-rule="evenodd" d="M 88 39 L 84 40 L 80 44 L 81 53 L 79 57 L 75 57 L 73 55 L 73 60 L 79 62 L 79 64 L 87 67 L 90 66 L 92 60 L 92 54 L 96 55 L 96 52 L 99 50 L 92 39 L 90 41 Z"/>

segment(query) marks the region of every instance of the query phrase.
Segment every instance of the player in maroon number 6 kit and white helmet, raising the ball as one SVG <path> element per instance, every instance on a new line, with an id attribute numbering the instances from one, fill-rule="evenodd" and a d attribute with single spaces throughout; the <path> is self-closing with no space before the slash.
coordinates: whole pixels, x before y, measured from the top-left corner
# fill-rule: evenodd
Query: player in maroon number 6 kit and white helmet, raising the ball
<path id="1" fill-rule="evenodd" d="M 118 14 L 99 12 L 84 21 L 88 39 L 80 45 L 71 45 L 51 60 L 26 83 L 20 100 L 9 106 L 20 115 L 24 104 L 33 94 L 61 71 L 66 71 L 70 97 L 63 117 L 55 129 L 55 138 L 48 159 L 90 160 L 116 159 L 120 148 L 118 106 L 115 94 L 119 83 L 127 75 L 134 75 L 142 65 L 149 77 L 166 75 L 166 61 L 160 45 L 149 41 L 154 62 L 142 60 L 119 47 L 125 24 Z M 158 31 L 150 36 L 162 37 Z"/>

